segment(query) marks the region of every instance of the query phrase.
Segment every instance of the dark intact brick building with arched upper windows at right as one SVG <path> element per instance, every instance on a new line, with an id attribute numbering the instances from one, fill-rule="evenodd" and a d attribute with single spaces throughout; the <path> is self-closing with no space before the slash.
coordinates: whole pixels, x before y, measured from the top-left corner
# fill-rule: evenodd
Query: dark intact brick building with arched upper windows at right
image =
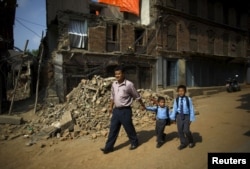
<path id="1" fill-rule="evenodd" d="M 248 4 L 158 0 L 158 85 L 220 86 L 245 80 Z"/>

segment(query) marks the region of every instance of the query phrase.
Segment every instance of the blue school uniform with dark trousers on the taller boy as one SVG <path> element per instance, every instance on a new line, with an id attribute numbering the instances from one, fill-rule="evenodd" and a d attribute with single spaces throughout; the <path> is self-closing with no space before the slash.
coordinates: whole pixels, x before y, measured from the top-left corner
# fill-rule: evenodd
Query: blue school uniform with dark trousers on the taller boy
<path id="1" fill-rule="evenodd" d="M 185 97 L 178 97 L 178 107 L 175 100 L 173 110 L 170 113 L 170 119 L 176 120 L 177 122 L 178 135 L 180 137 L 181 145 L 183 146 L 188 145 L 188 143 L 193 144 L 194 142 L 192 133 L 190 131 L 190 122 L 195 120 L 195 112 L 192 99 L 190 97 L 187 98 L 189 101 L 189 106 Z M 184 116 L 181 116 L 181 104 L 183 105 Z"/>

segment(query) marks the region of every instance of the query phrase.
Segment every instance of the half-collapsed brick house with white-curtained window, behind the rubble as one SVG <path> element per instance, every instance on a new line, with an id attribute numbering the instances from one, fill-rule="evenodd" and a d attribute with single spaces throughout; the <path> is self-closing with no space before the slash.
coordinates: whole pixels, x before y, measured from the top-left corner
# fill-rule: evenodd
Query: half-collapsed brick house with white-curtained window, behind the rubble
<path id="1" fill-rule="evenodd" d="M 47 42 L 60 101 L 82 78 L 113 76 L 118 64 L 126 66 L 136 87 L 155 88 L 155 30 L 123 21 L 116 7 L 86 0 L 68 3 L 58 7 L 57 1 L 47 1 Z"/>

